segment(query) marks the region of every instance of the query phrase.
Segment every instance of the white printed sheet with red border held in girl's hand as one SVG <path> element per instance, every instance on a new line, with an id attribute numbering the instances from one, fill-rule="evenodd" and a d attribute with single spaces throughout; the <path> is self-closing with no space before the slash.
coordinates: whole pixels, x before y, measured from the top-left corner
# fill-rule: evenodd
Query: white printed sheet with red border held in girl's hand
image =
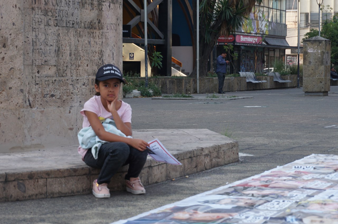
<path id="1" fill-rule="evenodd" d="M 148 142 L 150 147 L 147 147 L 148 155 L 156 161 L 166 162 L 172 165 L 182 165 L 170 152 L 163 146 L 159 139 L 154 139 Z"/>

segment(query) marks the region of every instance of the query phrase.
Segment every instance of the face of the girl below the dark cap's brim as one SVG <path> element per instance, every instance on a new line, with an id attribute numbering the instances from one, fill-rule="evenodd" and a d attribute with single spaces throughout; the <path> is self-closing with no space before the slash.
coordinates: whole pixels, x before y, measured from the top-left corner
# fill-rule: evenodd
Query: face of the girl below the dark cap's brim
<path id="1" fill-rule="evenodd" d="M 99 85 L 95 84 L 95 91 L 100 93 L 101 98 L 111 102 L 119 96 L 120 80 L 118 78 L 111 78 L 101 81 Z"/>

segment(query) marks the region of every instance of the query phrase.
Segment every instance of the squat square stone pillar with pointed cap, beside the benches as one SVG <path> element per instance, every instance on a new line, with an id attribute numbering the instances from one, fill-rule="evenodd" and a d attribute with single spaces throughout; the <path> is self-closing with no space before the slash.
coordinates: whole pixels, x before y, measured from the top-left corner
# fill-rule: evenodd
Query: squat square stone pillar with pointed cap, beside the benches
<path id="1" fill-rule="evenodd" d="M 303 41 L 305 96 L 327 96 L 330 91 L 331 41 L 315 36 Z"/>

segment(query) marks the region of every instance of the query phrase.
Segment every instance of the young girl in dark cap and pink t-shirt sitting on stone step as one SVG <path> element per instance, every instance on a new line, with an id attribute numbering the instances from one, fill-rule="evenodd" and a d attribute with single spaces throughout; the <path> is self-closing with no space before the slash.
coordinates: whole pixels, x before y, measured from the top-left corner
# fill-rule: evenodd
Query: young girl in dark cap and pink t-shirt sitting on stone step
<path id="1" fill-rule="evenodd" d="M 127 164 L 126 190 L 132 194 L 145 193 L 139 174 L 147 159 L 145 149 L 148 143 L 108 132 L 101 123 L 104 119 L 112 119 L 118 130 L 126 136 L 132 135 L 130 105 L 118 100 L 121 83 L 124 83 L 122 73 L 115 65 L 100 67 L 95 79 L 96 95 L 84 104 L 80 112 L 83 116 L 82 127 L 91 127 L 101 141 L 106 141 L 100 146 L 97 155 L 91 149 L 78 148 L 87 165 L 101 168 L 98 179 L 93 182 L 93 194 L 97 198 L 110 197 L 107 188 L 110 179 L 121 166 Z"/>

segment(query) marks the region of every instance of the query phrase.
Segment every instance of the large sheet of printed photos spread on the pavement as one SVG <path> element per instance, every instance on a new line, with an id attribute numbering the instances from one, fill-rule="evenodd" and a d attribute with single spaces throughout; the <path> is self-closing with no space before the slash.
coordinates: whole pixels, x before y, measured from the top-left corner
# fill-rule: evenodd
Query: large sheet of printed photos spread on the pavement
<path id="1" fill-rule="evenodd" d="M 116 224 L 338 224 L 338 156 L 313 154 Z"/>

